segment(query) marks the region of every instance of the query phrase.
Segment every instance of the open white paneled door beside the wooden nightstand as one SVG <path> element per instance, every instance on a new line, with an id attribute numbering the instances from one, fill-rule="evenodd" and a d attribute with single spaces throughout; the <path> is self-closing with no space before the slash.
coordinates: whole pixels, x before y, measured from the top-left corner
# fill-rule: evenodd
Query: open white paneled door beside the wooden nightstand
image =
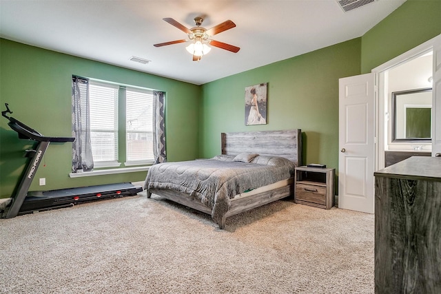
<path id="1" fill-rule="evenodd" d="M 374 74 L 339 80 L 338 207 L 374 211 Z"/>

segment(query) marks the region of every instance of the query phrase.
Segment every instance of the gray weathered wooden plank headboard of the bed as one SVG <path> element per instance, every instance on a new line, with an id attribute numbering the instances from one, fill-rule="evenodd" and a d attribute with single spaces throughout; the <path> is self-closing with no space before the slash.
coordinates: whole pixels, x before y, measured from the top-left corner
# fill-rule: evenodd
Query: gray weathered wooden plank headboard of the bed
<path id="1" fill-rule="evenodd" d="M 221 133 L 222 154 L 280 156 L 302 165 L 302 130 Z"/>

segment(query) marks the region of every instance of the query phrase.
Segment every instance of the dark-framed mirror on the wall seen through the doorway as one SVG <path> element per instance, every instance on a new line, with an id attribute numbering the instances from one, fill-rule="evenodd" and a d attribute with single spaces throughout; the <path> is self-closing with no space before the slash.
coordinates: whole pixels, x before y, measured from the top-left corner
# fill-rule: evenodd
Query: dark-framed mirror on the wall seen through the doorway
<path id="1" fill-rule="evenodd" d="M 392 93 L 392 142 L 431 142 L 432 88 Z"/>

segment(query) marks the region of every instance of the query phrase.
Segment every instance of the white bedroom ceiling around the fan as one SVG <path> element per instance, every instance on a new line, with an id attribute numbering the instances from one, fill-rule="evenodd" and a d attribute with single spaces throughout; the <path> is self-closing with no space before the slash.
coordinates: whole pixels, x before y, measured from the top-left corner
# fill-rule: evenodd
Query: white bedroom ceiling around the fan
<path id="1" fill-rule="evenodd" d="M 0 36 L 201 85 L 362 36 L 404 1 L 378 0 L 343 12 L 336 0 L 0 0 Z M 187 38 L 163 18 L 192 28 L 196 16 L 204 16 L 207 29 L 234 21 L 236 28 L 212 39 L 240 51 L 212 48 L 197 62 L 187 43 L 153 46 Z M 134 63 L 132 56 L 151 62 Z"/>

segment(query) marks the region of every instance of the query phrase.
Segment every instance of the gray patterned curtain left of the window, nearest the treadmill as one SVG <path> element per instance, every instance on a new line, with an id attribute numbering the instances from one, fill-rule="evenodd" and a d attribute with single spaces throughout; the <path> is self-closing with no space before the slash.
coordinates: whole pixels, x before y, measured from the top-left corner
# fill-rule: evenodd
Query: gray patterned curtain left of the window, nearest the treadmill
<path id="1" fill-rule="evenodd" d="M 72 76 L 72 172 L 92 171 L 90 143 L 89 80 Z"/>

